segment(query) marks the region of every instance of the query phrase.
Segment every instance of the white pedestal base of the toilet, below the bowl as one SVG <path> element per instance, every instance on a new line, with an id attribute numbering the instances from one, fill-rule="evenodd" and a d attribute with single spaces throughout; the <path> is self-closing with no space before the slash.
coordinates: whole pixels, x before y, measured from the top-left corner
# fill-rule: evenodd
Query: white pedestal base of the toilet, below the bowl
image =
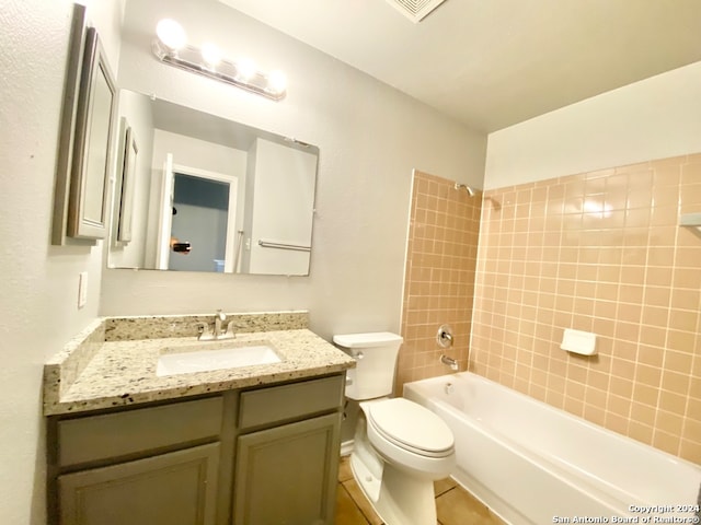
<path id="1" fill-rule="evenodd" d="M 432 480 L 406 476 L 391 464 L 383 465 L 378 479 L 357 454 L 350 455 L 350 470 L 386 525 L 436 525 Z"/>

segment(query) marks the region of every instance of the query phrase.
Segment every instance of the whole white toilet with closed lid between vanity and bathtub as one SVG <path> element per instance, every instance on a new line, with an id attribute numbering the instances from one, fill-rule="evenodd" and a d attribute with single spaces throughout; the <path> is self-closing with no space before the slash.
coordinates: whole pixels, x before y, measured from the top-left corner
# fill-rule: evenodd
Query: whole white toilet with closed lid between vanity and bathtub
<path id="1" fill-rule="evenodd" d="M 389 398 L 402 337 L 386 331 L 334 336 L 357 361 L 346 397 L 360 402 L 350 468 L 387 525 L 435 525 L 434 481 L 456 465 L 455 441 L 434 412 Z"/>

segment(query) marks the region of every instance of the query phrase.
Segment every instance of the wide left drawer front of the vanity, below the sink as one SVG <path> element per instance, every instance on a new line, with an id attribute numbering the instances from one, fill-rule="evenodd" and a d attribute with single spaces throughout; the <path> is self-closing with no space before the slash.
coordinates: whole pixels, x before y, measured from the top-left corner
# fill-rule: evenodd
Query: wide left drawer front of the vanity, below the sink
<path id="1" fill-rule="evenodd" d="M 222 407 L 221 397 L 211 397 L 59 421 L 59 466 L 217 438 Z"/>

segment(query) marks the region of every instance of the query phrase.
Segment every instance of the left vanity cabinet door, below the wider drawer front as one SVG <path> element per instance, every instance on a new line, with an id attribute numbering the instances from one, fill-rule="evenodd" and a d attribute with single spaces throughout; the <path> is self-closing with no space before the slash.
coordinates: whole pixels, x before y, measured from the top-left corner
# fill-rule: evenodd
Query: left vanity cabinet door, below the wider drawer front
<path id="1" fill-rule="evenodd" d="M 61 525 L 210 525 L 219 444 L 58 477 Z"/>

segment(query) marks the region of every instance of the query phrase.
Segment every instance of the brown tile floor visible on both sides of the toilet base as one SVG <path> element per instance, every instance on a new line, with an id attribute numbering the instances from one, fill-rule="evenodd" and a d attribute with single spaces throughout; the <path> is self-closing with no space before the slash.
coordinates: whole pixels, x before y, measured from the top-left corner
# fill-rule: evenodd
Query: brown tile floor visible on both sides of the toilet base
<path id="1" fill-rule="evenodd" d="M 335 525 L 382 525 L 372 506 L 353 479 L 349 456 L 341 458 L 336 488 Z M 434 483 L 438 525 L 504 525 L 504 522 L 458 486 L 452 479 Z"/>

